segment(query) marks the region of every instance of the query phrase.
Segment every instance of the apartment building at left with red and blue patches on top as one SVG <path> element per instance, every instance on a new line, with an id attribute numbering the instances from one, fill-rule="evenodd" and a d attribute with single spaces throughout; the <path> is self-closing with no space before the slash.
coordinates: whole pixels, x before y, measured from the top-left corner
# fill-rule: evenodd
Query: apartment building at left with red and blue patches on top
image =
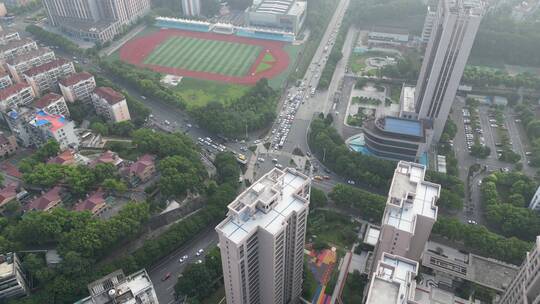
<path id="1" fill-rule="evenodd" d="M 2 114 L 11 132 L 24 147 L 39 147 L 51 139 L 56 140 L 62 150 L 79 146 L 75 124 L 62 115 L 27 107 Z"/>

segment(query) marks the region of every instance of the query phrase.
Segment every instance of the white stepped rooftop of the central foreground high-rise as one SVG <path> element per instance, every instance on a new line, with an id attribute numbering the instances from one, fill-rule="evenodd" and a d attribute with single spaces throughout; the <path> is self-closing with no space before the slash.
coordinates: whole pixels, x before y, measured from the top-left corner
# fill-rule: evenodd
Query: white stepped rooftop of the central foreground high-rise
<path id="1" fill-rule="evenodd" d="M 294 169 L 274 168 L 229 204 L 227 218 L 216 229 L 234 243 L 257 229 L 278 232 L 286 218 L 309 204 L 297 194 L 309 182 L 309 177 Z"/>

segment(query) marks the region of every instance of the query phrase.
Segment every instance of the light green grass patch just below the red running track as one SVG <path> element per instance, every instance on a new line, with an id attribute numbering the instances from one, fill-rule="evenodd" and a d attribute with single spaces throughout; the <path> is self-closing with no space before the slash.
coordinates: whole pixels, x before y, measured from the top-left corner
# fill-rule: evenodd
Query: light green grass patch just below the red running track
<path id="1" fill-rule="evenodd" d="M 188 108 L 202 107 L 210 101 L 230 104 L 244 95 L 249 86 L 220 83 L 211 80 L 183 78 L 174 89 L 176 94 L 185 101 Z"/>

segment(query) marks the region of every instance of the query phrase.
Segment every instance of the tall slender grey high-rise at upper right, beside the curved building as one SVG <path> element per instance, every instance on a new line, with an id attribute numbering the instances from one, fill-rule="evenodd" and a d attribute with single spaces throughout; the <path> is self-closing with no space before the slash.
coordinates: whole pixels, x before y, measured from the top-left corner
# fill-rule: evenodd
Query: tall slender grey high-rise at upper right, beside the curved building
<path id="1" fill-rule="evenodd" d="M 416 84 L 419 119 L 433 122 L 432 143 L 439 141 L 484 14 L 480 0 L 440 0 L 428 10 L 424 37 L 429 41 Z"/>

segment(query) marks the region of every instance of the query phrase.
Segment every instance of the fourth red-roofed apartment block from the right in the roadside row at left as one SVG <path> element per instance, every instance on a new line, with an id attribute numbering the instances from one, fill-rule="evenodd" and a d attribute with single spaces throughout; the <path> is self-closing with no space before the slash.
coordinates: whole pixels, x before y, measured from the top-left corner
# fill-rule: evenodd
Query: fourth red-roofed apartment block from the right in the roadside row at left
<path id="1" fill-rule="evenodd" d="M 16 82 L 24 80 L 23 73 L 29 69 L 56 59 L 54 52 L 49 48 L 40 47 L 28 53 L 6 60 L 7 71 Z"/>

